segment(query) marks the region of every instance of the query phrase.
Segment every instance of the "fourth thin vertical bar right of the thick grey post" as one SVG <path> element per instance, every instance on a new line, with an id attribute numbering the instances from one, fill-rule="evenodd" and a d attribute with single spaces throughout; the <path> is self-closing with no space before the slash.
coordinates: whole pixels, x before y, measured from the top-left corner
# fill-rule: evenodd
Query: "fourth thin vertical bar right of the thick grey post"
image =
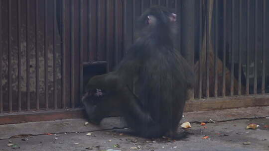
<path id="1" fill-rule="evenodd" d="M 223 70 L 222 70 L 222 96 L 226 95 L 226 4 L 223 0 Z"/>

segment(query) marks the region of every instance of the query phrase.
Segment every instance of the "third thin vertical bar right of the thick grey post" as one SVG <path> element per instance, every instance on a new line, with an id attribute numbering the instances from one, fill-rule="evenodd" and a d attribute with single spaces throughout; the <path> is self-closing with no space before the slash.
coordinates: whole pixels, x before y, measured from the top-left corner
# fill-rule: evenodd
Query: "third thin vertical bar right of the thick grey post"
<path id="1" fill-rule="evenodd" d="M 215 81 L 214 81 L 214 96 L 218 97 L 218 48 L 219 48 L 219 35 L 218 35 L 218 18 L 219 18 L 219 0 L 215 0 Z"/>

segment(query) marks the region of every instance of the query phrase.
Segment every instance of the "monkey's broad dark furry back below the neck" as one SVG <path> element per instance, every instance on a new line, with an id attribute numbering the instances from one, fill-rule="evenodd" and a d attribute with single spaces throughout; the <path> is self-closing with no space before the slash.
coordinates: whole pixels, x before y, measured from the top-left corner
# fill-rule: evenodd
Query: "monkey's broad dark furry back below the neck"
<path id="1" fill-rule="evenodd" d="M 139 74 L 132 77 L 134 93 L 160 129 L 169 130 L 181 119 L 193 71 L 174 49 L 152 48 L 141 53 L 145 56 L 139 62 Z"/>

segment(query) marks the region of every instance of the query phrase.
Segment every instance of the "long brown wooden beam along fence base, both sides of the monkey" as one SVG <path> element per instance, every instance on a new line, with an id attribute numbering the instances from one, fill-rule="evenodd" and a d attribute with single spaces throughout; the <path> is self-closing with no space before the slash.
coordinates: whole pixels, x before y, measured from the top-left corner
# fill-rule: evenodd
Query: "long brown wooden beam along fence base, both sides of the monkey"
<path id="1" fill-rule="evenodd" d="M 189 100 L 186 102 L 184 112 L 223 110 L 254 106 L 269 106 L 269 94 Z M 119 114 L 114 113 L 111 114 L 111 116 L 119 116 Z M 0 114 L 0 125 L 74 118 L 85 118 L 82 108 L 3 113 Z"/>

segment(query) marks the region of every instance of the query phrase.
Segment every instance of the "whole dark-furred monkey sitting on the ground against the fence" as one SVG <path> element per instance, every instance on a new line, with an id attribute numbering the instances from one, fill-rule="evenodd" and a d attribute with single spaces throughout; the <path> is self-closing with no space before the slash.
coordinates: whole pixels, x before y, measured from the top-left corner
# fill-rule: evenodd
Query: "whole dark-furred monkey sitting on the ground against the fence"
<path id="1" fill-rule="evenodd" d="M 152 6 L 137 19 L 138 38 L 115 71 L 92 77 L 82 103 L 88 120 L 100 124 L 113 113 L 144 138 L 177 134 L 187 99 L 193 88 L 193 68 L 174 48 L 176 14 Z"/>

